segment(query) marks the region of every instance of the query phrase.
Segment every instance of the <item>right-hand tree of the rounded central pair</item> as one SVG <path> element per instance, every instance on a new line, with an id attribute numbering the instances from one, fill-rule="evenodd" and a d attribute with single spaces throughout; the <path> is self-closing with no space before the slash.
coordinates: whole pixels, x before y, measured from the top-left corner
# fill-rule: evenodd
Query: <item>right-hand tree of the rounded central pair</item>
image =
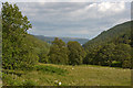
<path id="1" fill-rule="evenodd" d="M 69 64 L 70 65 L 81 65 L 83 58 L 85 57 L 85 52 L 80 43 L 78 42 L 68 42 L 69 48 Z"/>

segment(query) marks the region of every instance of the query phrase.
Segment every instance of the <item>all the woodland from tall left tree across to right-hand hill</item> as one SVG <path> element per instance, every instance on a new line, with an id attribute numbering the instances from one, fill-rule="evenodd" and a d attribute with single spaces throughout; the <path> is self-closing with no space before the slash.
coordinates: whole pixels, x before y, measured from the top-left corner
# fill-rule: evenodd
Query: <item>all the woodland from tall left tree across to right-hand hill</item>
<path id="1" fill-rule="evenodd" d="M 2 3 L 1 20 L 3 72 L 41 69 L 38 63 L 132 68 L 132 21 L 109 29 L 81 45 L 76 41 L 65 43 L 59 37 L 48 44 L 28 34 L 32 24 L 17 4 Z"/>

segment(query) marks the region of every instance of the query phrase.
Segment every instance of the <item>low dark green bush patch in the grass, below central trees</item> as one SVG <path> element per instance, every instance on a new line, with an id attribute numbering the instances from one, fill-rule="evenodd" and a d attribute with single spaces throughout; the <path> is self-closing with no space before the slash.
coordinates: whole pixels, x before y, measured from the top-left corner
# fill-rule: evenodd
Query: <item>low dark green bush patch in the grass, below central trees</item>
<path id="1" fill-rule="evenodd" d="M 58 74 L 58 75 L 65 75 L 65 74 L 68 74 L 66 70 L 58 68 L 58 67 L 53 67 L 53 66 L 37 65 L 35 69 L 37 70 L 41 70 L 43 73 Z"/>

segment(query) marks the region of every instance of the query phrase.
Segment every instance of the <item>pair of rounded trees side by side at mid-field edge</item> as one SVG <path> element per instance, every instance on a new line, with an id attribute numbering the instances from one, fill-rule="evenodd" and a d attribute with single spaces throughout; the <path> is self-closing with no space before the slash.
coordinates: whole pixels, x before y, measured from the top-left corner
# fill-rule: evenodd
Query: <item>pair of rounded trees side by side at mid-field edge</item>
<path id="1" fill-rule="evenodd" d="M 85 51 L 78 42 L 68 42 L 55 37 L 50 47 L 48 57 L 41 57 L 41 63 L 52 63 L 62 65 L 81 65 L 85 57 Z"/>

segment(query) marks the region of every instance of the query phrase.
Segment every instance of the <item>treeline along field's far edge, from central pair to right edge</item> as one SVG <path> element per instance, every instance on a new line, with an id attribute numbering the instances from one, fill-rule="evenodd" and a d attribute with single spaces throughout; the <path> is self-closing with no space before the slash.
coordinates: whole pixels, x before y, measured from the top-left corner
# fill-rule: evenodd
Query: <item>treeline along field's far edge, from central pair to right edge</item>
<path id="1" fill-rule="evenodd" d="M 132 68 L 131 35 L 123 34 L 109 43 L 92 47 L 88 51 L 78 43 L 65 44 L 58 37 L 52 42 L 49 58 L 43 58 L 41 63 L 63 64 L 63 65 L 100 65 L 110 67 Z"/>

